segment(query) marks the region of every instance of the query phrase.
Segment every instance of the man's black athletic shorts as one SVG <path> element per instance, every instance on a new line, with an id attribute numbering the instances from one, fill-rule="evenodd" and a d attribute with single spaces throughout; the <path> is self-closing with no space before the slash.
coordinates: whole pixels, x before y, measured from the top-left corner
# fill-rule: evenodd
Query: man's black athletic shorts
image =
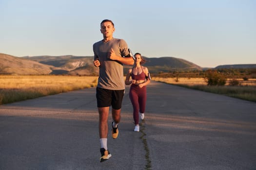
<path id="1" fill-rule="evenodd" d="M 96 98 L 98 107 L 109 107 L 113 109 L 120 109 L 124 96 L 123 90 L 109 90 L 104 88 L 96 88 Z"/>

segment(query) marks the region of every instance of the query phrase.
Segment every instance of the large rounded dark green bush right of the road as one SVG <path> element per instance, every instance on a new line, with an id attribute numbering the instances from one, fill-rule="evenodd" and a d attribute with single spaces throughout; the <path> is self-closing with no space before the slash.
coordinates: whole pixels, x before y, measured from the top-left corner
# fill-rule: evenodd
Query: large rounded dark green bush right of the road
<path id="1" fill-rule="evenodd" d="M 205 74 L 205 82 L 207 85 L 225 85 L 225 77 L 216 70 L 207 70 Z"/>

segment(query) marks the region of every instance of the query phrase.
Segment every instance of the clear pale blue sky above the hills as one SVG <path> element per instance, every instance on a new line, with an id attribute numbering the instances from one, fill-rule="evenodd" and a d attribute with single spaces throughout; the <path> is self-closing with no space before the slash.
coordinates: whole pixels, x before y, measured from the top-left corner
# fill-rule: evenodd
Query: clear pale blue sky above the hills
<path id="1" fill-rule="evenodd" d="M 0 52 L 92 56 L 103 19 L 146 57 L 256 64 L 256 0 L 0 0 Z"/>

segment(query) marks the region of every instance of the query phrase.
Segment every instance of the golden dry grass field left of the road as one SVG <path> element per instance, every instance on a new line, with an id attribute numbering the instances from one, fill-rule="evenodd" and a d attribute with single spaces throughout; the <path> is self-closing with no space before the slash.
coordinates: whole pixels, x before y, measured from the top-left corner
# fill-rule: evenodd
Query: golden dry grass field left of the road
<path id="1" fill-rule="evenodd" d="M 97 77 L 25 75 L 0 76 L 0 104 L 94 87 Z"/>

